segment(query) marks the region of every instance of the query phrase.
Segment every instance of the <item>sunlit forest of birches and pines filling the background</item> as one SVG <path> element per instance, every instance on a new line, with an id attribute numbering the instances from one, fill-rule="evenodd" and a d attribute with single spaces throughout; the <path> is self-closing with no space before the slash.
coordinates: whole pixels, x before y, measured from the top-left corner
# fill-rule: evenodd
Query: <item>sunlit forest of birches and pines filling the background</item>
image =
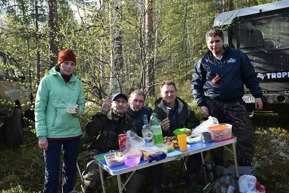
<path id="1" fill-rule="evenodd" d="M 216 14 L 269 2 L 1 0 L 0 50 L 17 58 L 34 93 L 59 50 L 72 48 L 86 100 L 153 95 L 162 80 L 191 79 Z"/>

